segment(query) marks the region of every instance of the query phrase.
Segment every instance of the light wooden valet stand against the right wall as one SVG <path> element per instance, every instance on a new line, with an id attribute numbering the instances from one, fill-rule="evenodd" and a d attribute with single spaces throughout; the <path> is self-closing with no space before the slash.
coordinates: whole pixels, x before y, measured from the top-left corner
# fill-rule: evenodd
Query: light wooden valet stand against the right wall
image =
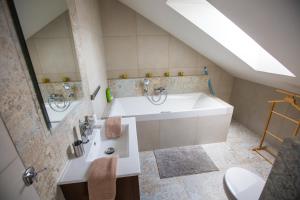
<path id="1" fill-rule="evenodd" d="M 273 157 L 276 157 L 276 155 L 274 153 L 272 153 L 270 150 L 267 149 L 267 146 L 263 146 L 267 135 L 273 137 L 274 139 L 276 139 L 280 143 L 283 142 L 283 138 L 281 138 L 281 137 L 277 136 L 276 134 L 272 133 L 271 131 L 269 131 L 269 125 L 270 125 L 270 122 L 271 122 L 272 115 L 275 114 L 279 117 L 282 117 L 286 120 L 289 120 L 289 121 L 295 123 L 296 128 L 294 129 L 294 132 L 293 132 L 294 137 L 297 136 L 298 131 L 300 129 L 300 119 L 293 119 L 293 118 L 291 118 L 291 117 L 289 117 L 289 116 L 287 116 L 283 113 L 279 113 L 279 112 L 274 110 L 275 105 L 277 103 L 288 103 L 291 106 L 293 106 L 296 110 L 300 111 L 300 105 L 296 101 L 296 98 L 300 98 L 300 95 L 292 93 L 292 92 L 288 92 L 288 91 L 285 91 L 285 90 L 276 90 L 276 92 L 281 93 L 281 94 L 285 94 L 286 96 L 282 100 L 268 101 L 268 103 L 271 103 L 272 105 L 271 105 L 271 110 L 270 110 L 270 113 L 269 113 L 269 116 L 268 116 L 268 119 L 267 119 L 267 122 L 266 122 L 264 133 L 263 133 L 263 136 L 260 140 L 260 143 L 259 143 L 258 147 L 253 149 L 254 151 L 256 151 L 260 156 L 262 156 L 266 161 L 268 161 L 271 164 L 273 164 L 272 161 L 270 159 L 268 159 L 266 156 L 264 156 L 262 153 L 260 153 L 259 151 L 260 150 L 265 150 L 266 152 L 271 154 Z"/>

